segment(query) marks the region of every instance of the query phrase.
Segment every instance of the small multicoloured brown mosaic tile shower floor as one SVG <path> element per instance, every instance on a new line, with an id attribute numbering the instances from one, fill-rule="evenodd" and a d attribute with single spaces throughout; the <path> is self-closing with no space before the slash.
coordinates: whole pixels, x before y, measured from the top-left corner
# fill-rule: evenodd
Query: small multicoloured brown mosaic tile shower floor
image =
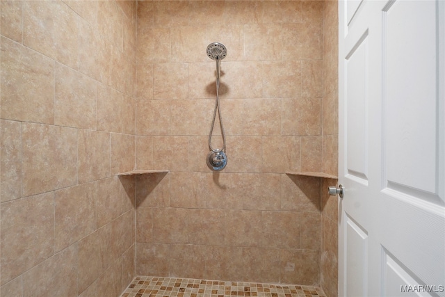
<path id="1" fill-rule="evenodd" d="M 220 280 L 194 280 L 191 278 L 156 278 L 137 276 L 121 297 L 324 297 L 321 288 L 259 284 L 253 282 L 225 282 Z"/>

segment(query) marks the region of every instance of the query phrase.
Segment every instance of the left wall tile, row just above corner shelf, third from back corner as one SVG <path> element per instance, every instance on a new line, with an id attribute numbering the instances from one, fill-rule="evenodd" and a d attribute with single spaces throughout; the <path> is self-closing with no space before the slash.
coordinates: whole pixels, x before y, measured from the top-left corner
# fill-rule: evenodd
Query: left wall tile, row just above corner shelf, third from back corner
<path id="1" fill-rule="evenodd" d="M 24 196 L 76 184 L 76 129 L 23 123 L 22 140 Z"/>

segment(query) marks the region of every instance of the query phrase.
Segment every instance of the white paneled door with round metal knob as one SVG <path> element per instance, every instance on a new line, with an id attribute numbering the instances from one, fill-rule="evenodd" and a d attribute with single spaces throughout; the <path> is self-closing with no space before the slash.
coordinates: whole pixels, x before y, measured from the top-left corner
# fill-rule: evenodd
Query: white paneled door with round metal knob
<path id="1" fill-rule="evenodd" d="M 339 1 L 340 296 L 445 296 L 445 1 Z"/>

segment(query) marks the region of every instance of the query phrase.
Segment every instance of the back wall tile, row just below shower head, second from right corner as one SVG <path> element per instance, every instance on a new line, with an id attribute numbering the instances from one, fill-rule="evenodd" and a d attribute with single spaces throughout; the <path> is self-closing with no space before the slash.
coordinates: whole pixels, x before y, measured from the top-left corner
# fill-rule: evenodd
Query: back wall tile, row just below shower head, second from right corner
<path id="1" fill-rule="evenodd" d="M 302 95 L 302 61 L 266 61 L 263 64 L 263 96 L 300 98 Z"/>

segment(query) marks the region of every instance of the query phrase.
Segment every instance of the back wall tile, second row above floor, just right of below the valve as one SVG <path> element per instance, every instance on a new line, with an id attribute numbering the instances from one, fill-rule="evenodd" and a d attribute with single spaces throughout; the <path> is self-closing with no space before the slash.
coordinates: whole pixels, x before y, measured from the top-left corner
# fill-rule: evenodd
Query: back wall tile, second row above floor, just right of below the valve
<path id="1" fill-rule="evenodd" d="M 261 211 L 227 210 L 225 246 L 260 247 L 263 232 Z"/>

